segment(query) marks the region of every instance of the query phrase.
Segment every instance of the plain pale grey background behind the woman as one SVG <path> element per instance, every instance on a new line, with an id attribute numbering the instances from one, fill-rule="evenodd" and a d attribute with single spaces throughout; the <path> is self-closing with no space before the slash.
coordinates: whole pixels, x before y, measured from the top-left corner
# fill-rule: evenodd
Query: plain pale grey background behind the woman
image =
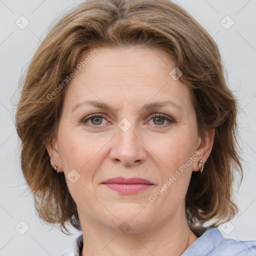
<path id="1" fill-rule="evenodd" d="M 65 235 L 56 227 L 41 223 L 35 215 L 32 197 L 25 191 L 14 127 L 14 104 L 18 100 L 21 71 L 52 18 L 79 2 L 0 0 L 0 256 L 60 255 L 79 234 L 71 228 L 73 235 Z M 228 73 L 228 85 L 235 91 L 241 107 L 239 142 L 245 162 L 244 180 L 235 194 L 239 214 L 219 229 L 224 237 L 256 240 L 256 0 L 176 2 L 214 37 Z M 15 23 L 17 20 L 21 26 L 21 15 L 29 21 L 24 29 Z M 229 27 L 232 20 L 234 24 Z M 24 24 L 25 19 L 22 20 Z"/>

